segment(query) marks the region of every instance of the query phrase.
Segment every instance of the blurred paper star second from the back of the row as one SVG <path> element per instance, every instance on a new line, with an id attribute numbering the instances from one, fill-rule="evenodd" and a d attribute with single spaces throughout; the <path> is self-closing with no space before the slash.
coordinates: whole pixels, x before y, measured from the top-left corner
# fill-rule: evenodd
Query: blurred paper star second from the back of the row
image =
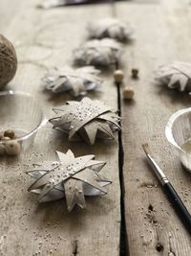
<path id="1" fill-rule="evenodd" d="M 90 40 L 74 50 L 74 62 L 78 65 L 108 66 L 117 63 L 120 44 L 111 38 Z"/>

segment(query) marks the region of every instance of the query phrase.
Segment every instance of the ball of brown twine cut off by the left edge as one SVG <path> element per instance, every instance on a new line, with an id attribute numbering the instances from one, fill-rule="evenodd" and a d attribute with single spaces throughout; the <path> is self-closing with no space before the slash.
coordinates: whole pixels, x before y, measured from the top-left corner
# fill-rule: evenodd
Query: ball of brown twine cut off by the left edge
<path id="1" fill-rule="evenodd" d="M 11 81 L 16 73 L 17 58 L 11 41 L 0 34 L 0 88 Z"/>

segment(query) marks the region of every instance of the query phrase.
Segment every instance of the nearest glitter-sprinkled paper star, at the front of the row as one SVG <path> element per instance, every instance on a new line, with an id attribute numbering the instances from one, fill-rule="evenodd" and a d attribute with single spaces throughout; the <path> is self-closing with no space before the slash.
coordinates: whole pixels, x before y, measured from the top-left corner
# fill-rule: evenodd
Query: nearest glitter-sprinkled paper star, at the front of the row
<path id="1" fill-rule="evenodd" d="M 72 211 L 74 205 L 85 208 L 85 196 L 99 196 L 107 193 L 107 180 L 99 171 L 106 164 L 96 161 L 95 155 L 74 157 L 72 151 L 56 151 L 58 161 L 35 164 L 27 174 L 35 178 L 28 189 L 38 194 L 40 202 L 66 198 L 67 207 Z"/>

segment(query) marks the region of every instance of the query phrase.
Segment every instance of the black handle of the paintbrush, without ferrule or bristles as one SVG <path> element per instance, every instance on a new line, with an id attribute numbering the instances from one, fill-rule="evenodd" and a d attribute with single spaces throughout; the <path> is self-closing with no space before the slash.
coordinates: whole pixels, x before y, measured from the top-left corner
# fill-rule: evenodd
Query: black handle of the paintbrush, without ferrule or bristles
<path id="1" fill-rule="evenodd" d="M 191 234 L 191 215 L 181 201 L 179 195 L 177 194 L 170 182 L 163 184 L 163 189 L 170 202 L 173 204 L 177 214 L 180 216 L 180 220 L 183 222 L 184 226 Z"/>

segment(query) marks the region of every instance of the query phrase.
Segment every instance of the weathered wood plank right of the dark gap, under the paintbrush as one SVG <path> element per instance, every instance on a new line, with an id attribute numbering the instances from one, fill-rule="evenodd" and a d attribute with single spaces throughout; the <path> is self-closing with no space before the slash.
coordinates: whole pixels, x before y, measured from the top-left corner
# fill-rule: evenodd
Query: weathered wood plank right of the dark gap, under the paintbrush
<path id="1" fill-rule="evenodd" d="M 190 97 L 155 84 L 153 70 L 171 60 L 190 61 L 190 9 L 184 1 L 160 5 L 117 4 L 117 16 L 135 28 L 136 40 L 125 47 L 126 83 L 135 100 L 122 102 L 125 215 L 130 255 L 190 255 L 188 233 L 165 198 L 159 181 L 145 162 L 141 144 L 151 151 L 191 211 L 191 176 L 165 139 L 170 115 L 190 106 Z M 139 80 L 131 68 L 139 68 Z"/>

